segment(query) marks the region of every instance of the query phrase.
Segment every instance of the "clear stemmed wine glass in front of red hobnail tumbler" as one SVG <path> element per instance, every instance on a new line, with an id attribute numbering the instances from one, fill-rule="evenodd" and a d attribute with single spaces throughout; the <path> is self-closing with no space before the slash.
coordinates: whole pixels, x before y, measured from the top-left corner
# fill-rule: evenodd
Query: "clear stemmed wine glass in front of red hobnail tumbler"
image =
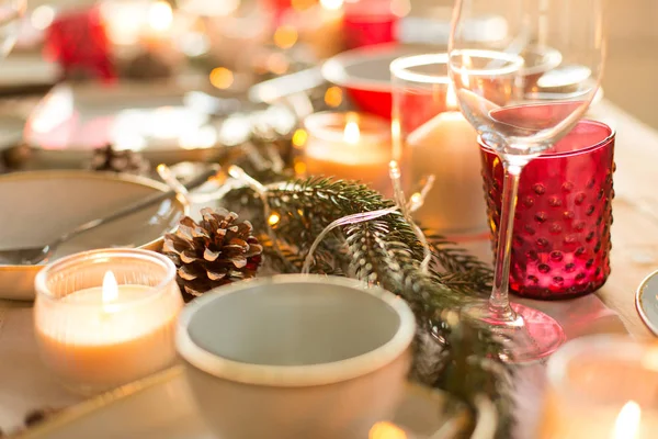
<path id="1" fill-rule="evenodd" d="M 460 108 L 504 169 L 494 289 L 466 315 L 514 340 L 510 361 L 540 360 L 565 340 L 551 316 L 508 297 L 523 167 L 585 114 L 605 58 L 604 0 L 457 0 L 449 71 Z M 488 18 L 487 27 L 474 24 Z"/>

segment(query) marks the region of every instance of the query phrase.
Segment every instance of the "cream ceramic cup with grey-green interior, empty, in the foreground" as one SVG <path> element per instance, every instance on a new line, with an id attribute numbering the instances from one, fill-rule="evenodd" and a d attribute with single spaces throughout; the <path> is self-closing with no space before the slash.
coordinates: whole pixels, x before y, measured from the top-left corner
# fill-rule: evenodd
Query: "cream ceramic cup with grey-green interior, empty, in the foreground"
<path id="1" fill-rule="evenodd" d="M 218 437 L 362 439 L 401 401 L 413 333 L 413 314 L 392 293 L 287 274 L 192 302 L 177 349 Z"/>

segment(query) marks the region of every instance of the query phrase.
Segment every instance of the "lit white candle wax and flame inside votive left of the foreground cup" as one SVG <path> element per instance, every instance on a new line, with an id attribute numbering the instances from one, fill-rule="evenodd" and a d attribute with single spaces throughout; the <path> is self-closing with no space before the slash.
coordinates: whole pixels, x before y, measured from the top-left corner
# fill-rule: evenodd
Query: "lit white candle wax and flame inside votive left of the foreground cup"
<path id="1" fill-rule="evenodd" d="M 107 271 L 102 286 L 35 307 L 42 357 L 66 384 L 89 393 L 162 369 L 175 357 L 172 333 L 182 306 L 175 283 L 166 288 L 174 290 L 117 285 Z"/>

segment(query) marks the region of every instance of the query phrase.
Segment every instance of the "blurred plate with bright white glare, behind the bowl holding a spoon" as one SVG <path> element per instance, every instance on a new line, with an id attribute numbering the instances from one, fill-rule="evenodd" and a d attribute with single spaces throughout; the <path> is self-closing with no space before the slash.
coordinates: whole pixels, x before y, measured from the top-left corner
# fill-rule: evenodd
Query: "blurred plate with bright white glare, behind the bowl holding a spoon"
<path id="1" fill-rule="evenodd" d="M 30 115 L 24 137 L 33 168 L 80 168 L 107 144 L 154 164 L 217 160 L 251 134 L 236 122 L 241 105 L 171 83 L 61 83 Z"/>

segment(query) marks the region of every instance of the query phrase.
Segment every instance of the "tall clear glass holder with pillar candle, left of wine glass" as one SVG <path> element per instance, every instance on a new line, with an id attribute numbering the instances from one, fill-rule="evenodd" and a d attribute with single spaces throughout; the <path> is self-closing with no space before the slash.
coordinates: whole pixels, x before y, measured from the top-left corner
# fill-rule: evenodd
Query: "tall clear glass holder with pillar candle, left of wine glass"
<path id="1" fill-rule="evenodd" d="M 447 55 L 402 57 L 390 64 L 393 157 L 407 193 L 430 175 L 434 184 L 415 216 L 450 236 L 486 230 L 477 133 L 457 109 Z"/>

